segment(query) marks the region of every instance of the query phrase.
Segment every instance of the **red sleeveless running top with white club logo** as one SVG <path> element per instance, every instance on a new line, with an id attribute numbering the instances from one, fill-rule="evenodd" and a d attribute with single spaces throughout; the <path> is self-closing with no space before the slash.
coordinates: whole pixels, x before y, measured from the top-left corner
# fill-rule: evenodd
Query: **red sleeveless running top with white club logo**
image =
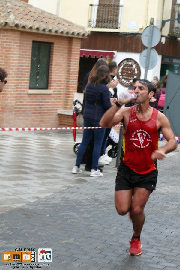
<path id="1" fill-rule="evenodd" d="M 146 174 L 157 169 L 151 155 L 158 149 L 158 110 L 153 108 L 151 118 L 141 121 L 137 118 L 135 107 L 131 107 L 127 131 L 123 134 L 121 160 L 134 172 Z"/>

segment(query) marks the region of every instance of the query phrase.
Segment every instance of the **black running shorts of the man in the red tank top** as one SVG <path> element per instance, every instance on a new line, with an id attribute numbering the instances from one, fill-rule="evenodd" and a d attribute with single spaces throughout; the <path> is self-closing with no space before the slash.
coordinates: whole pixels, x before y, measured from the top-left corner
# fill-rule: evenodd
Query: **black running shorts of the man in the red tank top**
<path id="1" fill-rule="evenodd" d="M 121 161 L 116 176 L 115 190 L 127 190 L 134 187 L 143 187 L 153 191 L 156 189 L 157 179 L 158 170 L 153 170 L 151 173 L 147 174 L 139 174 L 135 173 Z"/>

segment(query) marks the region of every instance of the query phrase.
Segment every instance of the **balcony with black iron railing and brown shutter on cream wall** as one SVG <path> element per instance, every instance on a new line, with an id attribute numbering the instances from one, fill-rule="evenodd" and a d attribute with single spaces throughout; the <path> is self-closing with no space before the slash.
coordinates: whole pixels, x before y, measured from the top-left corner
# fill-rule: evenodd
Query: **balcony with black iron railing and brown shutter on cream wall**
<path id="1" fill-rule="evenodd" d="M 120 29 L 122 5 L 90 4 L 88 13 L 88 27 Z"/>

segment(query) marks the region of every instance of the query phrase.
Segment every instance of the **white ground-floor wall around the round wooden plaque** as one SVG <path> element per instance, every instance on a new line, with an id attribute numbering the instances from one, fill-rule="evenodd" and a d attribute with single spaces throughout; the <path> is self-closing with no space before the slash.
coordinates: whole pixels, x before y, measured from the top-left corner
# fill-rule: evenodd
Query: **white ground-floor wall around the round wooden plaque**
<path id="1" fill-rule="evenodd" d="M 145 69 L 140 64 L 140 53 L 134 53 L 134 52 L 117 52 L 116 56 L 113 58 L 113 61 L 117 63 L 117 65 L 124 60 L 125 58 L 132 58 L 139 64 L 141 68 L 141 79 L 144 79 Z M 161 58 L 162 55 L 158 55 L 158 63 L 157 65 L 152 69 L 148 71 L 147 79 L 149 81 L 152 81 L 154 76 L 160 77 L 160 71 L 161 71 Z M 119 95 L 120 92 L 127 90 L 128 88 L 119 84 L 117 85 L 117 93 Z"/>

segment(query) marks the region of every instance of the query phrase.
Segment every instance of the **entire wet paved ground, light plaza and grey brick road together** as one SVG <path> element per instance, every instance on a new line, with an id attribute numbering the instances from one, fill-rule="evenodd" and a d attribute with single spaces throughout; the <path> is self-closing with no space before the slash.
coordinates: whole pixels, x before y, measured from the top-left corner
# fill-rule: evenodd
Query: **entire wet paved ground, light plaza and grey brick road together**
<path id="1" fill-rule="evenodd" d="M 158 162 L 157 189 L 145 208 L 143 253 L 132 257 L 132 223 L 114 207 L 115 159 L 103 177 L 72 175 L 70 131 L 2 132 L 0 138 L 1 254 L 52 248 L 52 262 L 42 269 L 53 270 L 180 269 L 180 147 Z M 12 269 L 1 256 L 0 269 Z"/>

